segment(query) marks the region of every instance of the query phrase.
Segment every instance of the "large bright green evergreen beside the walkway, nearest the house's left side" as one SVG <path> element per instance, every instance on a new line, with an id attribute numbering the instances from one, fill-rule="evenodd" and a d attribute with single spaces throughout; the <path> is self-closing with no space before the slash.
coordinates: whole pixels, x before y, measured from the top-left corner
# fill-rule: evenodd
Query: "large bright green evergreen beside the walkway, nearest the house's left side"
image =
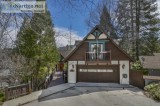
<path id="1" fill-rule="evenodd" d="M 37 68 L 35 72 L 36 86 L 38 86 L 38 75 L 42 73 L 42 67 L 49 69 L 57 63 L 59 59 L 58 50 L 55 43 L 55 32 L 49 11 L 41 14 L 34 14 L 31 19 L 31 28 L 38 33 L 38 51 L 36 55 Z M 40 71 L 41 70 L 41 71 Z"/>

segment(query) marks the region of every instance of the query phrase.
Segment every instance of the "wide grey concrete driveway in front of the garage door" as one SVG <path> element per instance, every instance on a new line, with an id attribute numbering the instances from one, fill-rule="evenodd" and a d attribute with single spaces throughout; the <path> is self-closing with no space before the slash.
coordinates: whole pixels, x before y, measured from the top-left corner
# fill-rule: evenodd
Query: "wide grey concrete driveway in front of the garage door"
<path id="1" fill-rule="evenodd" d="M 73 87 L 24 106 L 160 106 L 138 88 Z"/>

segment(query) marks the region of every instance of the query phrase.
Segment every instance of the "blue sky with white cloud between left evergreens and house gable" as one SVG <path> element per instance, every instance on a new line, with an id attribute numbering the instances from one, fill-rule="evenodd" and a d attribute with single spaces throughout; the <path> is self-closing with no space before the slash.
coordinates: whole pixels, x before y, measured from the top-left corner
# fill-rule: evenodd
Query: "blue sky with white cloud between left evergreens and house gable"
<path id="1" fill-rule="evenodd" d="M 57 3 L 55 0 L 47 0 L 47 8 L 51 13 L 56 32 L 58 32 L 58 34 L 68 36 L 71 32 L 71 41 L 72 44 L 74 44 L 75 40 L 83 39 L 83 37 L 89 32 L 89 28 L 87 27 L 85 20 L 89 17 L 90 8 L 86 9 L 85 7 L 81 7 L 82 9 L 80 11 L 74 10 L 74 8 L 66 7 L 66 4 L 63 3 L 64 1 L 61 1 L 62 2 Z M 160 0 L 157 0 L 157 2 L 160 11 Z M 77 6 L 78 4 L 75 5 Z M 95 7 L 93 6 L 92 8 Z M 58 46 L 65 46 L 69 44 L 68 37 L 65 38 L 63 36 L 57 37 L 56 42 Z"/>

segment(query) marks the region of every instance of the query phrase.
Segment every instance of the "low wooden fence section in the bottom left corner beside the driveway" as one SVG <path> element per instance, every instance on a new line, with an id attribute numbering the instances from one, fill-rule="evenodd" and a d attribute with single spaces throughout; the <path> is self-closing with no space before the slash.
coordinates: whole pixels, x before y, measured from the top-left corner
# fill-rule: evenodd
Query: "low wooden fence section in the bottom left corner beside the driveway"
<path id="1" fill-rule="evenodd" d="M 5 99 L 10 100 L 30 93 L 31 84 L 22 84 L 5 88 Z"/>

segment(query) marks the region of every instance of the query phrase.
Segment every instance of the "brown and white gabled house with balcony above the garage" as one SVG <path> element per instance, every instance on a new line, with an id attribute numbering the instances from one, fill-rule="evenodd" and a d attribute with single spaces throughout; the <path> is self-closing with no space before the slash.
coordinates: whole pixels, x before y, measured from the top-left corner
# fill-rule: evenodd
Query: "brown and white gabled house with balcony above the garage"
<path id="1" fill-rule="evenodd" d="M 68 83 L 111 82 L 129 84 L 132 58 L 99 26 L 94 27 L 64 59 Z"/>

